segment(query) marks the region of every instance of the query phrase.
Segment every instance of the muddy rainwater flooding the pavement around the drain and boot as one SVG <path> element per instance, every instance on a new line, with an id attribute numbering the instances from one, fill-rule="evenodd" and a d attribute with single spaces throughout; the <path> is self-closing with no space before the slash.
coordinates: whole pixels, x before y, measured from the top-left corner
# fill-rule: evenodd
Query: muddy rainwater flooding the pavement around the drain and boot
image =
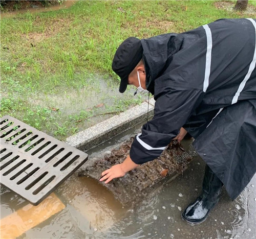
<path id="1" fill-rule="evenodd" d="M 130 133 L 105 142 L 89 155 L 108 150 Z M 224 189 L 205 222 L 191 226 L 181 219 L 183 209 L 200 194 L 204 174 L 205 164 L 189 147 L 191 141 L 183 140 L 185 149 L 194 154 L 183 175 L 159 187 L 135 208 L 123 207 L 97 181 L 74 174 L 54 192 L 65 208 L 17 238 L 256 238 L 255 175 L 233 202 Z M 2 190 L 1 218 L 27 204 L 15 193 Z M 54 206 L 45 209 L 49 212 Z"/>

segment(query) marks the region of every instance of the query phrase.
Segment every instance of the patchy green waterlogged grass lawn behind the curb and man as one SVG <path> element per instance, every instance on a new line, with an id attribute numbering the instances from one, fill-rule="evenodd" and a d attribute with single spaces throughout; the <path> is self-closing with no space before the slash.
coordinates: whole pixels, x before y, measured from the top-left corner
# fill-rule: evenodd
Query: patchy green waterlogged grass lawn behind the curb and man
<path id="1" fill-rule="evenodd" d="M 111 64 L 127 37 L 183 32 L 233 12 L 235 1 L 77 1 L 70 8 L 1 20 L 1 116 L 9 114 L 58 139 L 140 104 L 118 93 Z M 224 7 L 223 7 L 223 6 Z M 226 6 L 226 7 L 225 7 Z M 229 9 L 228 9 L 229 7 Z"/>

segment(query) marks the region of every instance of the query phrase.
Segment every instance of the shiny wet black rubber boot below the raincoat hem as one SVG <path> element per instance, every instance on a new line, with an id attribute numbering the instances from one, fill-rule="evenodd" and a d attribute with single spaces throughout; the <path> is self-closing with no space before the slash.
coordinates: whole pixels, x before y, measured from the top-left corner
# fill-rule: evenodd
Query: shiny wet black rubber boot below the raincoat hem
<path id="1" fill-rule="evenodd" d="M 182 212 L 182 218 L 193 224 L 206 220 L 210 210 L 219 202 L 223 183 L 206 164 L 201 195 Z"/>

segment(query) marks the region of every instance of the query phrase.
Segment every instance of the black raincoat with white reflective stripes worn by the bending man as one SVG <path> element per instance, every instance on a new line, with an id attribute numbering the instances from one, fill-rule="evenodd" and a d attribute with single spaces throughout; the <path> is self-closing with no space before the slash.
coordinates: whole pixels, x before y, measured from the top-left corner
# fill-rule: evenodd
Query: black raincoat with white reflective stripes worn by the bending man
<path id="1" fill-rule="evenodd" d="M 256 172 L 255 19 L 220 19 L 141 42 L 156 103 L 131 159 L 157 158 L 184 127 L 235 199 Z"/>

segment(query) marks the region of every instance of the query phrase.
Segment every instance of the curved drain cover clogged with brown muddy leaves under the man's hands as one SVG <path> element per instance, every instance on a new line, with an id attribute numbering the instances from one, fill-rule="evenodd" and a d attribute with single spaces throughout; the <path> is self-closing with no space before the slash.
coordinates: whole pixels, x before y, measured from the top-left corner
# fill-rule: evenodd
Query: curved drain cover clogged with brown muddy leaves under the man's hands
<path id="1" fill-rule="evenodd" d="M 124 141 L 119 149 L 113 149 L 101 158 L 94 158 L 93 163 L 78 172 L 78 176 L 89 176 L 99 180 L 104 170 L 124 161 L 133 140 L 134 137 Z M 107 187 L 124 206 L 134 206 L 159 187 L 160 181 L 170 181 L 181 174 L 191 159 L 181 144 L 172 141 L 157 159 L 138 166 L 124 177 L 113 179 L 108 184 L 98 182 Z"/>

